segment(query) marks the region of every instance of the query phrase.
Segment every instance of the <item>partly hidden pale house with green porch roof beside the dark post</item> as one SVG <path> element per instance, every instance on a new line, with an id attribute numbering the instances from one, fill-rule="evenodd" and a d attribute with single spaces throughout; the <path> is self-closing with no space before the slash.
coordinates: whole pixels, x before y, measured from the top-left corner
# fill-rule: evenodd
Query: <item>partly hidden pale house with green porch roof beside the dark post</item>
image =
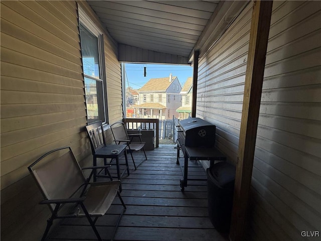
<path id="1" fill-rule="evenodd" d="M 191 117 L 192 112 L 192 95 L 193 95 L 193 78 L 188 77 L 182 90 L 182 106 L 176 111 L 179 112 L 180 119 Z"/>

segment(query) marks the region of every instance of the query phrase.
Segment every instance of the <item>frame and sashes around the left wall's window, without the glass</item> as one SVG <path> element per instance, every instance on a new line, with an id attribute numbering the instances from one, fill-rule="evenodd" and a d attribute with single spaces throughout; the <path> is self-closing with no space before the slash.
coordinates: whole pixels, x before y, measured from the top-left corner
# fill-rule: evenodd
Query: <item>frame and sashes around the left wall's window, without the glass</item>
<path id="1" fill-rule="evenodd" d="M 100 119 L 103 124 L 108 123 L 108 105 L 107 105 L 107 81 L 106 81 L 106 71 L 105 70 L 105 54 L 104 54 L 104 34 L 103 32 L 96 26 L 96 24 L 90 19 L 90 17 L 85 13 L 83 9 L 78 6 L 78 29 L 79 29 L 79 39 L 81 43 L 81 37 L 80 37 L 80 25 L 84 26 L 86 30 L 92 34 L 93 36 L 97 37 L 98 39 L 98 56 L 99 56 L 99 75 L 100 77 L 93 77 L 90 75 L 85 74 L 84 72 L 84 66 L 83 66 L 83 57 L 81 55 L 81 61 L 82 61 L 82 71 L 83 71 L 83 76 L 84 76 L 84 87 L 85 87 L 85 77 L 89 79 L 93 79 L 95 81 L 101 81 L 102 83 L 102 100 L 101 102 L 103 103 L 103 118 Z M 81 47 L 81 44 L 80 44 Z M 85 92 L 85 99 L 86 99 L 86 92 Z M 100 101 L 98 101 L 100 102 Z M 85 100 L 86 108 L 87 108 L 87 99 Z M 99 108 L 98 108 L 99 109 Z M 87 123 L 93 123 L 89 122 L 90 119 L 89 114 L 88 114 L 88 108 L 87 108 Z M 98 116 L 99 117 L 99 116 Z"/>

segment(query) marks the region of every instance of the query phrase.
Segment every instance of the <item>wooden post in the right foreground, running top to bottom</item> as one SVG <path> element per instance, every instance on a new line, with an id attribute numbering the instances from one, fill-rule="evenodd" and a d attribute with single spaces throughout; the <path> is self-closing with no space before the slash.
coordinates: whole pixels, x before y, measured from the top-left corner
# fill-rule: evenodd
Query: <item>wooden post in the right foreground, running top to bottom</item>
<path id="1" fill-rule="evenodd" d="M 247 59 L 230 240 L 244 240 L 273 1 L 254 1 Z"/>

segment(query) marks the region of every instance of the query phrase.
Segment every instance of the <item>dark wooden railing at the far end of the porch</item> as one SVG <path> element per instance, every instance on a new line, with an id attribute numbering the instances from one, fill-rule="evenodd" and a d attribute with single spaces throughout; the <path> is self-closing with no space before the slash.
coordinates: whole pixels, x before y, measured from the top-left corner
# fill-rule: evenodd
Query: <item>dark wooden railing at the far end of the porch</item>
<path id="1" fill-rule="evenodd" d="M 124 123 L 127 130 L 131 129 L 151 129 L 154 130 L 155 147 L 159 144 L 159 119 L 145 119 L 145 118 L 124 118 Z"/>

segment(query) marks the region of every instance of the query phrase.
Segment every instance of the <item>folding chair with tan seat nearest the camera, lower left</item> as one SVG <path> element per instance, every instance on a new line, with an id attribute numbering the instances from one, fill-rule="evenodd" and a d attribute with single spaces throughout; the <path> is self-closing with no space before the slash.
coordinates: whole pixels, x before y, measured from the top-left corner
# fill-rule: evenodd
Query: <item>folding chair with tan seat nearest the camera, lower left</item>
<path id="1" fill-rule="evenodd" d="M 45 240 L 54 219 L 76 217 L 86 217 L 97 239 L 102 240 L 95 223 L 98 217 L 105 215 L 117 195 L 123 208 L 110 240 L 113 239 L 120 218 L 126 209 L 118 192 L 119 180 L 90 183 L 92 172 L 86 179 L 70 147 L 58 148 L 46 153 L 28 169 L 44 196 L 40 204 L 48 204 L 52 212 L 47 220 L 42 240 Z"/>

